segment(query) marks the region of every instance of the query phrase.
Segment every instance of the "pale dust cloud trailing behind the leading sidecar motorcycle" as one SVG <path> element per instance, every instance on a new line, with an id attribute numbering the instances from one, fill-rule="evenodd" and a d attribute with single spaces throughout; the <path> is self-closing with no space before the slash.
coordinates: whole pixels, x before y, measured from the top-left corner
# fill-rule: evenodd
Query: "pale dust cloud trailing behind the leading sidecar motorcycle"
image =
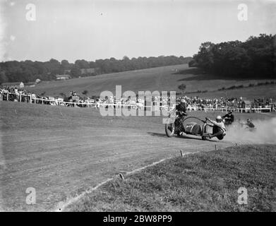
<path id="1" fill-rule="evenodd" d="M 256 126 L 256 130 L 249 131 L 246 126 L 241 126 L 238 122 L 227 127 L 225 141 L 235 143 L 269 143 L 276 144 L 276 117 L 272 119 L 252 121 Z"/>

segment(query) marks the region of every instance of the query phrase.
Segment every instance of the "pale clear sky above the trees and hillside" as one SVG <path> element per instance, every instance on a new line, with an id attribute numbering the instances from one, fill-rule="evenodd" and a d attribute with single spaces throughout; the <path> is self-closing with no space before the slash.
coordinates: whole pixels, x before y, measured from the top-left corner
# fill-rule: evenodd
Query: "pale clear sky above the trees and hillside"
<path id="1" fill-rule="evenodd" d="M 239 20 L 239 4 L 247 20 Z M 0 7 L 0 61 L 192 57 L 203 42 L 276 34 L 276 0 L 0 0 Z"/>

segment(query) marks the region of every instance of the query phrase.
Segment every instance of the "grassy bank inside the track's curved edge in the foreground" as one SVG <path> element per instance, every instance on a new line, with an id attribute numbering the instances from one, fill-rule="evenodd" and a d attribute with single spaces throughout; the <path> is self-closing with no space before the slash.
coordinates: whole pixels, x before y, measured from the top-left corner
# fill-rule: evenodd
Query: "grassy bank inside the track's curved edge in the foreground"
<path id="1" fill-rule="evenodd" d="M 175 157 L 115 179 L 71 211 L 275 211 L 276 145 L 243 145 Z M 240 205 L 239 187 L 248 191 Z"/>

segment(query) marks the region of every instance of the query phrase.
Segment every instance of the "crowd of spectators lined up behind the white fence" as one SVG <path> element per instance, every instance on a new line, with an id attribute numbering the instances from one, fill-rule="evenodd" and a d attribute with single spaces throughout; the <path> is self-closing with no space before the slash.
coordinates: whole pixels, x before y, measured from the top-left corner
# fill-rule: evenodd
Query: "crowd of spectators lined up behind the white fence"
<path id="1" fill-rule="evenodd" d="M 186 100 L 188 109 L 202 110 L 202 109 L 243 109 L 243 97 L 220 97 L 220 98 L 203 98 L 203 97 L 176 97 L 174 100 L 177 103 L 181 99 Z M 116 97 L 106 97 L 101 100 L 99 97 L 80 97 L 76 91 L 71 91 L 68 97 L 45 97 L 43 94 L 35 95 L 28 90 L 18 89 L 16 87 L 0 86 L 0 100 L 9 100 L 14 102 L 32 102 L 44 105 L 61 105 L 68 107 L 100 107 L 102 104 L 114 105 L 131 105 L 137 108 L 142 108 L 148 105 L 143 99 L 137 98 L 136 101 L 131 98 L 121 98 L 117 100 Z M 152 105 L 168 106 L 172 102 L 171 97 L 152 97 Z M 256 98 L 250 102 L 251 108 L 268 108 L 275 111 L 276 103 L 270 99 Z"/>

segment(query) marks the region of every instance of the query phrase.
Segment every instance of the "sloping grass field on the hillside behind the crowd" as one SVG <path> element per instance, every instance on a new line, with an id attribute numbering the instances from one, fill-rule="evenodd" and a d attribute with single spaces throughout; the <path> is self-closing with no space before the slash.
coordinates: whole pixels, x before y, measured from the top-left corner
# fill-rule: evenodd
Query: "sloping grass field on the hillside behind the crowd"
<path id="1" fill-rule="evenodd" d="M 176 72 L 177 70 L 177 72 Z M 275 80 L 276 81 L 276 80 Z M 250 83 L 263 82 L 262 80 L 222 80 L 205 74 L 199 69 L 188 68 L 188 64 L 176 66 L 164 66 L 153 69 L 143 69 L 138 71 L 125 71 L 121 73 L 109 73 L 99 76 L 86 78 L 73 78 L 68 81 L 42 82 L 29 90 L 36 94 L 61 96 L 61 93 L 68 95 L 71 90 L 76 90 L 82 95 L 84 90 L 88 91 L 88 96 L 100 95 L 104 90 L 112 91 L 115 95 L 115 86 L 121 85 L 123 92 L 132 90 L 138 91 L 171 91 L 180 92 L 178 86 L 181 83 L 186 84 L 186 92 L 197 90 L 214 91 L 222 87 L 232 85 L 248 85 Z M 201 95 L 200 93 L 193 93 Z M 225 92 L 203 93 L 204 97 L 248 97 L 249 100 L 254 97 L 273 97 L 276 98 L 276 85 L 264 85 L 260 87 L 244 88 L 239 90 L 227 90 Z"/>

